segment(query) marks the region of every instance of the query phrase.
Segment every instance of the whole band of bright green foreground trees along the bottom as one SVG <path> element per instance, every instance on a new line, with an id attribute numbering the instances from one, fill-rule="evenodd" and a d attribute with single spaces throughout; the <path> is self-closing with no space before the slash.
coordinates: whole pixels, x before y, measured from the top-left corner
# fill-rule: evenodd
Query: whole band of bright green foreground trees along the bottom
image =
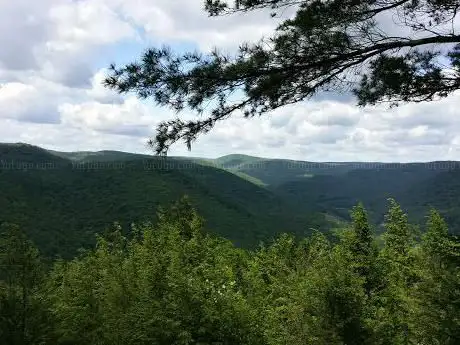
<path id="1" fill-rule="evenodd" d="M 0 242 L 2 344 L 460 343 L 460 242 L 423 235 L 390 200 L 377 241 L 362 205 L 333 240 L 284 234 L 255 250 L 203 231 L 186 200 L 44 263 L 21 229 Z"/>

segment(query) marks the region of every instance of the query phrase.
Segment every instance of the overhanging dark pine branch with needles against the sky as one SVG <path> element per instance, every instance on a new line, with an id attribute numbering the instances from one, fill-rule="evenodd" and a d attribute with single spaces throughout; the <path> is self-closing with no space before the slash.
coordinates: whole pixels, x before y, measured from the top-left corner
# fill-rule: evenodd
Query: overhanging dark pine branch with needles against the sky
<path id="1" fill-rule="evenodd" d="M 285 19 L 271 37 L 242 42 L 235 54 L 146 50 L 112 65 L 105 86 L 134 92 L 180 117 L 158 125 L 150 144 L 166 154 L 235 114 L 246 118 L 324 91 L 351 92 L 358 105 L 433 101 L 460 86 L 460 2 L 452 0 L 206 0 L 209 16 L 265 11 Z"/>

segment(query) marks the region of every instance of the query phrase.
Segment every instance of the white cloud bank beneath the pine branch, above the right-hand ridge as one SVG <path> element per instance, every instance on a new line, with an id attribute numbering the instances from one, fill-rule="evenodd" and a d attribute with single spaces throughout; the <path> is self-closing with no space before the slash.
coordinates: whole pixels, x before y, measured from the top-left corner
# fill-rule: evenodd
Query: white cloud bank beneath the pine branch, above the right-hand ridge
<path id="1" fill-rule="evenodd" d="M 460 159 L 460 121 L 455 111 L 459 100 L 452 96 L 430 104 L 443 120 L 422 124 L 418 118 L 424 104 L 407 104 L 391 111 L 383 106 L 360 109 L 331 101 L 297 104 L 263 118 L 221 123 L 198 141 L 194 154 L 206 152 L 207 147 L 219 150 L 210 156 L 230 153 L 224 143 L 236 143 L 246 154 L 313 161 Z M 352 120 L 343 121 L 347 116 Z"/>

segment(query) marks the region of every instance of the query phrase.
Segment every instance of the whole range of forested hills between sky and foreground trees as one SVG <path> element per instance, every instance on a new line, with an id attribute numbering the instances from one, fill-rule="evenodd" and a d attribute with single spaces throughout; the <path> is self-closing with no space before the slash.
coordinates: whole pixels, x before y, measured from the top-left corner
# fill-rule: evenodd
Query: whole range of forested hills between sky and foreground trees
<path id="1" fill-rule="evenodd" d="M 18 223 L 45 252 L 69 254 L 114 221 L 154 220 L 158 206 L 188 195 L 207 227 L 254 246 L 286 231 L 329 229 L 357 202 L 381 224 L 394 197 L 416 223 L 430 207 L 460 224 L 456 162 L 315 163 L 229 155 L 218 159 L 118 151 L 56 152 L 0 145 L 0 222 Z M 325 217 L 333 216 L 333 217 Z"/>

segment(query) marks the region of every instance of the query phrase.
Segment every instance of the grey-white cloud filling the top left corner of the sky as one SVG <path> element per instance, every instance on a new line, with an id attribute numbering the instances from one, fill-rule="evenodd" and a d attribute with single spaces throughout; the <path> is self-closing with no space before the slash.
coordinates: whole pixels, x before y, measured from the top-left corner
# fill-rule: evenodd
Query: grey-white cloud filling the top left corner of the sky
<path id="1" fill-rule="evenodd" d="M 0 1 L 0 70 L 10 78 L 16 77 L 12 71 L 25 71 L 69 86 L 87 85 L 101 47 L 136 35 L 102 1 Z"/>

